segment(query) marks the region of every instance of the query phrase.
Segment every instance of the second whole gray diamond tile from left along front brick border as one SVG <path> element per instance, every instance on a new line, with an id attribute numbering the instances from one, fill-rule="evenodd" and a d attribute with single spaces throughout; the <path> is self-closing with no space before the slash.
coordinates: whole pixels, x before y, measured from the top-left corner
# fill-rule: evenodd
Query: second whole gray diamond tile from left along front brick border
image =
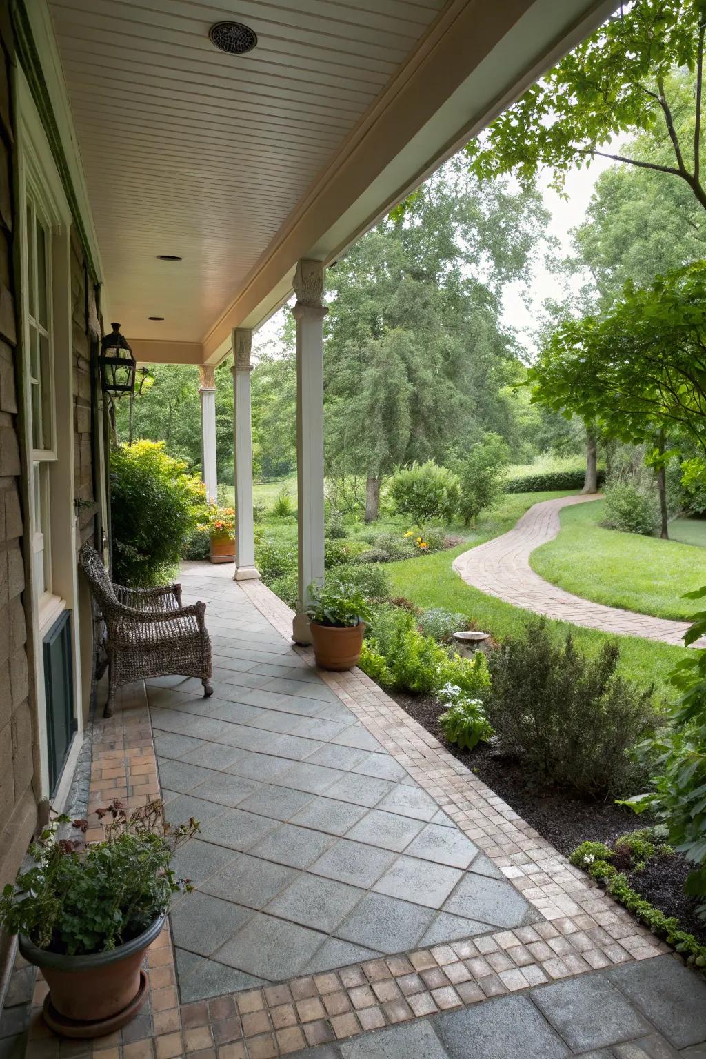
<path id="1" fill-rule="evenodd" d="M 381 952 L 403 952 L 417 944 L 433 918 L 433 910 L 421 904 L 410 904 L 383 894 L 366 894 L 336 934 L 344 941 Z"/>

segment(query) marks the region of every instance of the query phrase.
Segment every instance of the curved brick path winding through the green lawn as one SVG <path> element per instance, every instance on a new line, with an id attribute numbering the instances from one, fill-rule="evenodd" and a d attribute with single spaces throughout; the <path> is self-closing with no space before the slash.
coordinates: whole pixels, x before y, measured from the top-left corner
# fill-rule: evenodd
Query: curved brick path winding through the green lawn
<path id="1" fill-rule="evenodd" d="M 529 566 L 529 556 L 541 544 L 554 540 L 560 530 L 559 511 L 568 504 L 599 500 L 599 495 L 561 497 L 535 504 L 518 524 L 502 537 L 478 544 L 455 559 L 453 568 L 467 585 L 504 599 L 513 607 L 536 614 L 573 622 L 587 629 L 614 632 L 623 636 L 644 636 L 666 644 L 682 645 L 688 622 L 635 614 L 617 607 L 605 607 L 572 595 L 545 581 Z M 683 646 L 683 645 L 682 645 Z M 699 646 L 704 646 L 701 642 Z"/>

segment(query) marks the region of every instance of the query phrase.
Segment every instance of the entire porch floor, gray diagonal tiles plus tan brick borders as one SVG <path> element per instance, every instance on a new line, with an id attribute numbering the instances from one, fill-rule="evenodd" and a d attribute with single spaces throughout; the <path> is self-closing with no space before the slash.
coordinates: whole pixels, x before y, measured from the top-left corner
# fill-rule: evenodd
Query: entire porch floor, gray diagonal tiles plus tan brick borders
<path id="1" fill-rule="evenodd" d="M 41 981 L 28 1023 L 18 966 L 3 1022 L 28 1059 L 704 1055 L 706 985 L 664 943 L 364 674 L 315 670 L 265 586 L 206 564 L 183 581 L 209 605 L 215 695 L 125 688 L 94 725 L 89 812 L 198 801 L 179 855 L 197 890 L 111 1037 L 59 1042 Z"/>

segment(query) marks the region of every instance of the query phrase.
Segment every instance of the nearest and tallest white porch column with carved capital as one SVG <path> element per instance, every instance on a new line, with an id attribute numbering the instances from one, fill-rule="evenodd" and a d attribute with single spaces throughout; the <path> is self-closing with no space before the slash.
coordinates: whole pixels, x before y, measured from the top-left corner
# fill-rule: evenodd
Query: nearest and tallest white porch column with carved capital
<path id="1" fill-rule="evenodd" d="M 292 625 L 297 644 L 311 643 L 305 613 L 312 581 L 324 582 L 324 268 L 300 261 L 296 304 L 296 491 L 298 598 Z"/>

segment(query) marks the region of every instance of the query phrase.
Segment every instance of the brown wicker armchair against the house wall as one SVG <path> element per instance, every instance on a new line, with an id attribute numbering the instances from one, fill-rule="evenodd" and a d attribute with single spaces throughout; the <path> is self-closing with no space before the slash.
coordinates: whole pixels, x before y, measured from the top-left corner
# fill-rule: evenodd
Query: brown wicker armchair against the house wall
<path id="1" fill-rule="evenodd" d="M 204 698 L 213 695 L 211 640 L 203 621 L 206 605 L 183 607 L 180 585 L 157 589 L 113 585 L 101 556 L 88 542 L 78 559 L 106 624 L 109 677 L 103 716 L 112 716 L 121 684 L 148 677 L 198 677 Z"/>

